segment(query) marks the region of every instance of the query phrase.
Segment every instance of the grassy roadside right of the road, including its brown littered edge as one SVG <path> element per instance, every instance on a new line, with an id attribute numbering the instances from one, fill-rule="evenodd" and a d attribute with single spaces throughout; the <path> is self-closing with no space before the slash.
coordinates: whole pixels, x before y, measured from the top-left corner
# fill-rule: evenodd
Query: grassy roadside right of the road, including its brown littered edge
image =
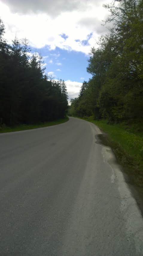
<path id="1" fill-rule="evenodd" d="M 94 123 L 107 133 L 107 144 L 112 147 L 127 174 L 133 175 L 133 183 L 143 186 L 143 132 L 136 131 L 135 125 L 108 124 L 107 120 L 82 118 Z"/>

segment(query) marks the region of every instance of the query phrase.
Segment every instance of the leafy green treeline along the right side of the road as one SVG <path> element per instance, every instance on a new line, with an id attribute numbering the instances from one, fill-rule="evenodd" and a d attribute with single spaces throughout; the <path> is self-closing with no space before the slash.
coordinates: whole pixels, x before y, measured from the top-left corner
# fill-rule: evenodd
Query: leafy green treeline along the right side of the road
<path id="1" fill-rule="evenodd" d="M 91 49 L 87 72 L 69 114 L 109 122 L 143 120 L 143 0 L 115 0 L 104 5 L 109 33 Z"/>

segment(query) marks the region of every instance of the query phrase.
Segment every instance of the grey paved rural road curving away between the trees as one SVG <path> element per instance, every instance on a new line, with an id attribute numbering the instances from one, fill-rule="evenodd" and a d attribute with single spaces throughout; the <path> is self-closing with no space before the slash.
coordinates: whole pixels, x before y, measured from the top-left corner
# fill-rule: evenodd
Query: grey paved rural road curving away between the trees
<path id="1" fill-rule="evenodd" d="M 0 134 L 1 256 L 142 256 L 143 219 L 93 124 Z"/>

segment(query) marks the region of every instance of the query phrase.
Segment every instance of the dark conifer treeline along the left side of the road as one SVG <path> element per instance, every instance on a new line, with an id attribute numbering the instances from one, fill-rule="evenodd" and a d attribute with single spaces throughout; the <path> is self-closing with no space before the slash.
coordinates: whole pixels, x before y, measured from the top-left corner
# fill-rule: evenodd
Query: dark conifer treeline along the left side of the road
<path id="1" fill-rule="evenodd" d="M 0 19 L 0 125 L 39 123 L 65 116 L 68 94 L 64 80 L 45 75 L 42 56 L 30 58 L 27 40 L 7 44 Z"/>

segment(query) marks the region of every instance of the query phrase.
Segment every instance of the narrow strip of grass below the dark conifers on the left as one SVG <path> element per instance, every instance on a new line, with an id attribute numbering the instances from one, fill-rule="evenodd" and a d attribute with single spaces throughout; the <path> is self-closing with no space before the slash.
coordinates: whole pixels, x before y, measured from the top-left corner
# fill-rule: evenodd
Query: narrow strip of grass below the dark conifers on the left
<path id="1" fill-rule="evenodd" d="M 42 127 L 46 127 L 46 126 L 52 126 L 52 125 L 57 125 L 57 124 L 60 124 L 60 123 L 65 123 L 68 120 L 69 120 L 69 117 L 65 117 L 65 118 L 62 118 L 62 119 L 58 119 L 58 120 L 50 121 L 50 122 L 46 122 L 46 123 L 20 124 L 20 125 L 15 126 L 15 127 L 3 126 L 3 127 L 0 127 L 0 133 L 9 133 L 9 132 L 16 132 L 16 131 L 42 128 Z"/>

